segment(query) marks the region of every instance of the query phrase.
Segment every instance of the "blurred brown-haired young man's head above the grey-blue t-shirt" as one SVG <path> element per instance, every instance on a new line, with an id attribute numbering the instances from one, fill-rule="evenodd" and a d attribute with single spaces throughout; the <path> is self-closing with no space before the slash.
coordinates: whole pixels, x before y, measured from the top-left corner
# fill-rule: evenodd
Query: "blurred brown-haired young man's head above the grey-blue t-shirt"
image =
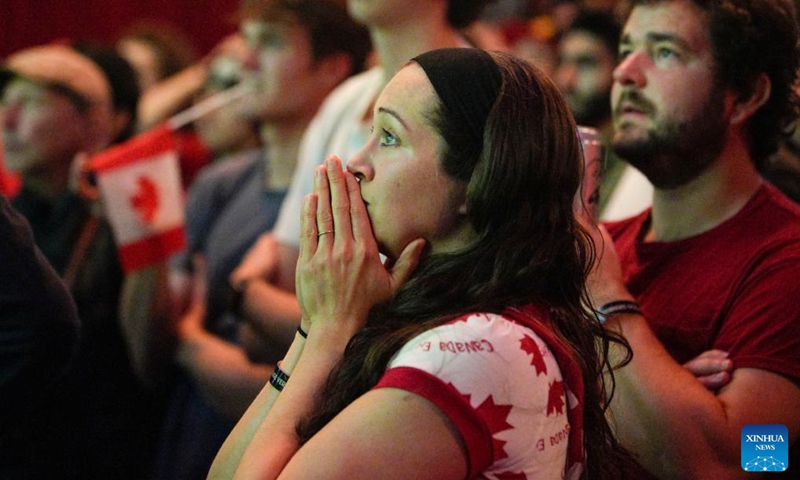
<path id="1" fill-rule="evenodd" d="M 307 121 L 370 50 L 343 0 L 245 0 L 240 14 L 254 93 L 238 103 L 251 119 Z"/>

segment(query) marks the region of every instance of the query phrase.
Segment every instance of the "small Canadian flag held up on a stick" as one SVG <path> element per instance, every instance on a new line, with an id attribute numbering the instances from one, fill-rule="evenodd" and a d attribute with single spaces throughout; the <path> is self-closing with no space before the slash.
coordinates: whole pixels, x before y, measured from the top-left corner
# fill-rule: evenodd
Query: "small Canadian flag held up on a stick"
<path id="1" fill-rule="evenodd" d="M 183 187 L 177 144 L 167 125 L 90 162 L 125 272 L 166 260 L 184 247 Z"/>

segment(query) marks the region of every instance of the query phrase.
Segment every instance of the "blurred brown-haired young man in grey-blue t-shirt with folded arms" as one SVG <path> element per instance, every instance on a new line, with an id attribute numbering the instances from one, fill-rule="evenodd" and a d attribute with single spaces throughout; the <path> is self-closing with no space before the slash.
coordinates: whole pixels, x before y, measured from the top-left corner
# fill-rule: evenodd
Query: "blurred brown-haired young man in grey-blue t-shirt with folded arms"
<path id="1" fill-rule="evenodd" d="M 242 322 L 232 305 L 228 277 L 272 228 L 303 131 L 328 93 L 363 69 L 370 49 L 366 31 L 342 1 L 246 0 L 240 14 L 250 52 L 243 81 L 252 90 L 229 107 L 239 121 L 260 125 L 264 147 L 203 170 L 187 199 L 184 261 L 142 272 L 138 290 L 126 292 L 136 309 L 151 302 L 140 313 L 151 315 L 153 330 L 177 323 L 176 348 L 166 353 L 179 371 L 154 478 L 206 478 L 222 442 L 291 343 L 299 313 L 285 325 L 270 325 L 278 334 L 262 341 L 260 327 Z M 160 298 L 164 291 L 170 308 Z M 170 311 L 175 319 L 165 318 Z M 151 340 L 155 347 L 161 341 Z M 163 353 L 154 348 L 140 358 L 140 370 L 161 375 L 152 367 Z"/>

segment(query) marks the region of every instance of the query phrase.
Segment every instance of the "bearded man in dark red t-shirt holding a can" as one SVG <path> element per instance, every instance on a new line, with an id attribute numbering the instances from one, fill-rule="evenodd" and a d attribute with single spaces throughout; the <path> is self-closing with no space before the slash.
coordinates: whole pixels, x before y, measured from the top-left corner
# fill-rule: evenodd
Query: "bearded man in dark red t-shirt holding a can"
<path id="1" fill-rule="evenodd" d="M 629 478 L 757 478 L 740 456 L 749 424 L 786 426 L 797 450 L 800 208 L 757 171 L 796 117 L 797 38 L 789 0 L 633 2 L 613 148 L 653 206 L 607 225 L 591 284 L 601 312 L 639 304 L 605 324 L 633 349 L 611 401 L 641 465 Z M 681 367 L 710 349 L 731 370 L 718 390 Z"/>

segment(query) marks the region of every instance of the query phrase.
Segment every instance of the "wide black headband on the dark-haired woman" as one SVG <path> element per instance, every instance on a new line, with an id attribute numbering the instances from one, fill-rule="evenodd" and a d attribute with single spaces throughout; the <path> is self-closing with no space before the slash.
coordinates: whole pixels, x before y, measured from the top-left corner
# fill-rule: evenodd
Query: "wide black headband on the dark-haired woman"
<path id="1" fill-rule="evenodd" d="M 476 152 L 483 148 L 483 129 L 503 78 L 491 55 L 477 48 L 443 48 L 411 59 L 428 76 L 445 109 L 474 138 Z"/>

